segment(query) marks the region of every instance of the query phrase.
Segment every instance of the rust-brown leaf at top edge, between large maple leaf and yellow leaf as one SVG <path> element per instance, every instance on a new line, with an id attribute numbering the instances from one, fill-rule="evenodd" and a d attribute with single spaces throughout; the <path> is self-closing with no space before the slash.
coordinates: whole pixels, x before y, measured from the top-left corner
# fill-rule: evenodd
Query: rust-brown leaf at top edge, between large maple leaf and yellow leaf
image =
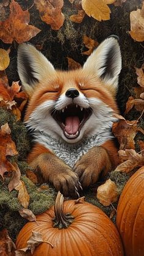
<path id="1" fill-rule="evenodd" d="M 65 16 L 62 13 L 63 0 L 34 0 L 40 12 L 40 18 L 51 26 L 51 29 L 58 30 L 62 27 Z"/>

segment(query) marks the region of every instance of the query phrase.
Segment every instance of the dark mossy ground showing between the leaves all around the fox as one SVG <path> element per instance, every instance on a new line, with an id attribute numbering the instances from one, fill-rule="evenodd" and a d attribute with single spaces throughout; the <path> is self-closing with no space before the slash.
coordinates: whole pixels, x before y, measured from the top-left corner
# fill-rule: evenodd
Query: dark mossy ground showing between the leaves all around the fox
<path id="1" fill-rule="evenodd" d="M 43 45 L 41 52 L 52 62 L 54 67 L 59 69 L 68 69 L 67 57 L 72 57 L 80 64 L 84 64 L 87 59 L 82 55 L 86 50 L 82 38 L 84 35 L 98 40 L 100 43 L 109 35 L 115 34 L 120 37 L 121 53 L 123 57 L 123 69 L 120 74 L 120 86 L 118 90 L 118 104 L 121 113 L 123 113 L 126 101 L 132 94 L 132 88 L 137 85 L 137 76 L 135 75 L 134 67 L 140 67 L 143 64 L 143 45 L 139 42 L 134 42 L 128 34 L 130 31 L 129 14 L 132 10 L 142 6 L 141 0 L 127 0 L 122 7 L 110 5 L 111 15 L 109 21 L 96 21 L 93 18 L 85 16 L 81 24 L 72 23 L 69 16 L 76 13 L 76 9 L 68 0 L 64 1 L 63 13 L 65 14 L 65 23 L 59 31 L 52 31 L 51 28 L 40 20 L 38 10 L 35 9 L 33 1 L 17 0 L 23 7 L 23 10 L 29 9 L 32 25 L 41 29 L 41 32 L 30 42 L 34 45 Z M 31 7 L 32 6 L 32 7 Z M 30 8 L 31 7 L 31 8 Z M 7 9 L 7 12 L 9 10 Z M 10 65 L 6 70 L 9 82 L 18 81 L 18 73 L 16 71 L 16 43 L 12 45 L 4 44 L 0 41 L 0 48 L 7 49 L 11 46 Z M 132 109 L 127 115 L 129 120 L 134 120 L 139 117 L 140 113 Z M 19 152 L 18 156 L 10 158 L 10 161 L 17 161 L 21 170 L 21 178 L 26 184 L 27 191 L 31 197 L 29 209 L 34 214 L 39 214 L 54 204 L 56 191 L 50 187 L 46 191 L 38 191 L 38 186 L 35 186 L 27 177 L 26 170 L 29 166 L 26 163 L 27 153 L 31 150 L 31 137 L 27 134 L 26 128 L 22 122 L 16 122 L 16 118 L 10 111 L 0 108 L 0 126 L 8 122 L 12 131 L 12 139 L 15 141 L 16 148 Z M 142 119 L 140 125 L 143 125 Z M 137 135 L 138 139 L 143 139 L 142 134 Z M 112 172 L 109 177 L 116 182 L 118 190 L 123 189 L 124 184 L 129 178 L 129 175 Z M 7 184 L 9 179 L 4 182 L 0 181 L 0 228 L 9 230 L 10 236 L 15 240 L 16 235 L 21 227 L 26 223 L 26 220 L 21 218 L 18 210 L 21 205 L 18 202 L 18 192 L 13 190 L 9 193 Z M 103 207 L 96 199 L 93 188 L 84 191 L 84 195 L 88 202 L 101 208 L 108 216 L 113 207 L 117 208 L 117 203 L 113 206 Z M 115 222 L 115 216 L 113 217 Z"/>

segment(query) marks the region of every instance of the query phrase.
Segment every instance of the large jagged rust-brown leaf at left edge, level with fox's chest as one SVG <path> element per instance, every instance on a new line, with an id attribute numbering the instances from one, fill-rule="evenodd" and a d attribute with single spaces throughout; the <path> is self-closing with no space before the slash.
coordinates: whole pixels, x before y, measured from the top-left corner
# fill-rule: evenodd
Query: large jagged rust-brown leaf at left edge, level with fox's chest
<path id="1" fill-rule="evenodd" d="M 13 166 L 6 158 L 6 156 L 15 156 L 18 154 L 16 151 L 15 142 L 12 141 L 10 136 L 10 128 L 8 123 L 1 126 L 0 130 L 0 175 L 4 178 L 5 172 L 15 171 Z"/>

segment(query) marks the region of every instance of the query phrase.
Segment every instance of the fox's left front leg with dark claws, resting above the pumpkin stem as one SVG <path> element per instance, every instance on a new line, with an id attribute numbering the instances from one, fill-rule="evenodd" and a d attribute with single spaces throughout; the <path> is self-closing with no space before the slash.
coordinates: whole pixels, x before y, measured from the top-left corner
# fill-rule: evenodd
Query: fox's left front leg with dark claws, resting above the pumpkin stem
<path id="1" fill-rule="evenodd" d="M 52 183 L 64 196 L 79 196 L 81 185 L 77 174 L 43 145 L 34 146 L 27 162 L 35 169 L 38 177 Z"/>

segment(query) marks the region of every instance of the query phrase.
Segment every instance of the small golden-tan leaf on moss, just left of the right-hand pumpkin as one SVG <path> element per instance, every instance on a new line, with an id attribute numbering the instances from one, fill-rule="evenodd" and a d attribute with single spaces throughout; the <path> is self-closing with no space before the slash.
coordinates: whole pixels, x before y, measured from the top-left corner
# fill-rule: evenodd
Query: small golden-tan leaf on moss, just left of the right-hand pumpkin
<path id="1" fill-rule="evenodd" d="M 109 178 L 103 185 L 98 187 L 96 197 L 102 205 L 109 206 L 110 203 L 118 200 L 117 185 Z"/>

